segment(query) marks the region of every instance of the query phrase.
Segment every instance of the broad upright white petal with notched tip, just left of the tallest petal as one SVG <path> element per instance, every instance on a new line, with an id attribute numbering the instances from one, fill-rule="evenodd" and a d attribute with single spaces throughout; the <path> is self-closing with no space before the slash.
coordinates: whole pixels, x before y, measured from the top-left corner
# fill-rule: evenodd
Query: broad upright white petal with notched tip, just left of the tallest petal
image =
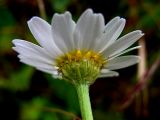
<path id="1" fill-rule="evenodd" d="M 57 46 L 63 51 L 70 51 L 75 46 L 73 43 L 73 31 L 75 22 L 72 20 L 71 14 L 54 14 L 52 19 L 52 34 Z"/>

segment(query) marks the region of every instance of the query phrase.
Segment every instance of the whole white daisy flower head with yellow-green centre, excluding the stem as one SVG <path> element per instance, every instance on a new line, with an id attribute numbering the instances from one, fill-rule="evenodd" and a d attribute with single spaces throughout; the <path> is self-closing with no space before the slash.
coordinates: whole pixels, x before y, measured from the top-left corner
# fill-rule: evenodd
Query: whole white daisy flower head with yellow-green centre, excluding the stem
<path id="1" fill-rule="evenodd" d="M 28 21 L 39 45 L 14 39 L 13 49 L 22 63 L 75 83 L 92 83 L 97 77 L 117 76 L 113 70 L 136 64 L 139 57 L 122 56 L 140 46 L 129 48 L 143 36 L 140 30 L 120 37 L 125 19 L 115 17 L 105 25 L 102 14 L 87 9 L 78 19 L 70 12 L 54 14 L 51 25 L 39 17 Z"/>

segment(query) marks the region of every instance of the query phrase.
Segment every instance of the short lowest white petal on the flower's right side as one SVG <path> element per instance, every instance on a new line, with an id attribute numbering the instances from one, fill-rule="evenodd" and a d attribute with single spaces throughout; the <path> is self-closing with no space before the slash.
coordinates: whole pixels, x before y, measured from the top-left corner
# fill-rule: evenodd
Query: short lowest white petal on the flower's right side
<path id="1" fill-rule="evenodd" d="M 99 75 L 99 78 L 102 78 L 102 77 L 116 77 L 118 75 L 119 75 L 118 72 L 110 71 L 108 69 L 102 69 L 101 73 Z"/>

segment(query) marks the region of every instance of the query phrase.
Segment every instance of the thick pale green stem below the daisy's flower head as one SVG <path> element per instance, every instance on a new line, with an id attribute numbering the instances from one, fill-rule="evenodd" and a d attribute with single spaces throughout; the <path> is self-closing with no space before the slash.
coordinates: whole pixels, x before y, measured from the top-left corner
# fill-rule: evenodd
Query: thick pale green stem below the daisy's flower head
<path id="1" fill-rule="evenodd" d="M 81 109 L 82 120 L 93 120 L 91 103 L 89 98 L 89 85 L 79 84 L 76 85 L 76 89 Z"/>

